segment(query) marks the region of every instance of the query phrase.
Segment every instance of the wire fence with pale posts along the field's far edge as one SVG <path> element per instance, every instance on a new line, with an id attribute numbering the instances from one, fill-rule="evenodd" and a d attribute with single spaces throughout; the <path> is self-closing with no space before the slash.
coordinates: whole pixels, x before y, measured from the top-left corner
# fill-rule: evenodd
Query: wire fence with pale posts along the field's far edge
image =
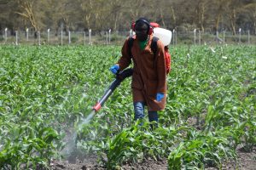
<path id="1" fill-rule="evenodd" d="M 132 31 L 5 31 L 1 32 L 0 44 L 33 45 L 122 45 Z M 172 31 L 172 45 L 177 44 L 256 44 L 255 34 L 250 31 L 201 32 Z"/>

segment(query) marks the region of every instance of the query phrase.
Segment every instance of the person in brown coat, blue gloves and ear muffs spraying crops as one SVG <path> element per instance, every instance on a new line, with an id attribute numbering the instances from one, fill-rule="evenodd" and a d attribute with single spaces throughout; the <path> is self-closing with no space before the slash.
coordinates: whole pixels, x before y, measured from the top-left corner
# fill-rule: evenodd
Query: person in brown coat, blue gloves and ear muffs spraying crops
<path id="1" fill-rule="evenodd" d="M 122 56 L 110 71 L 116 74 L 133 62 L 131 89 L 135 120 L 144 117 L 147 106 L 148 121 L 156 122 L 157 125 L 158 111 L 166 107 L 165 46 L 161 41 L 155 41 L 153 27 L 148 19 L 139 18 L 131 27 L 136 35 L 125 40 L 121 49 Z M 152 48 L 154 41 L 155 50 Z M 150 126 L 154 127 L 153 123 Z"/>

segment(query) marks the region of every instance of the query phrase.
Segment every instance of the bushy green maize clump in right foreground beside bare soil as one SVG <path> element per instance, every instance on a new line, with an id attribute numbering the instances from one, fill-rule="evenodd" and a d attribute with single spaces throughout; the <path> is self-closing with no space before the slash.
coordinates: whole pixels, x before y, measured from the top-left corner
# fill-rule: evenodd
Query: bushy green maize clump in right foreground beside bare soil
<path id="1" fill-rule="evenodd" d="M 220 167 L 227 158 L 235 158 L 230 141 L 211 133 L 189 134 L 188 140 L 179 144 L 168 156 L 168 169 L 204 169 L 206 166 Z"/>

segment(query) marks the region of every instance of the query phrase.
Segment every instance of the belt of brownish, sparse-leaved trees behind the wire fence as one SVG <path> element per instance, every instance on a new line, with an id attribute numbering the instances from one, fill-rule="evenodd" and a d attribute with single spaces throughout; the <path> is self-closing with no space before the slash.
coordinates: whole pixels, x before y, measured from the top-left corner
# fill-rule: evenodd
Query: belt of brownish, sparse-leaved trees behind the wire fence
<path id="1" fill-rule="evenodd" d="M 216 32 L 222 26 L 235 34 L 238 26 L 247 25 L 256 32 L 255 4 L 255 0 L 0 0 L 0 29 L 127 30 L 132 20 L 147 17 L 166 28 Z"/>

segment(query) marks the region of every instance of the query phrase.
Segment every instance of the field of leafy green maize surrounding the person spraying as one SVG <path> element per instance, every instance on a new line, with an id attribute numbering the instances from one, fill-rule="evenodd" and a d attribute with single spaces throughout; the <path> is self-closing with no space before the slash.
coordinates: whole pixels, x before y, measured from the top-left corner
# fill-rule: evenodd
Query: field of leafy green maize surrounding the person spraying
<path id="1" fill-rule="evenodd" d="M 77 130 L 80 155 L 104 166 L 148 157 L 169 169 L 220 167 L 256 144 L 254 46 L 175 47 L 159 127 L 133 121 L 131 80 Z M 49 167 L 114 77 L 120 47 L 0 47 L 0 167 Z M 75 138 L 76 136 L 72 136 Z M 62 155 L 63 156 L 63 155 Z M 64 156 L 66 156 L 64 154 Z M 107 158 L 107 159 L 106 159 Z"/>

